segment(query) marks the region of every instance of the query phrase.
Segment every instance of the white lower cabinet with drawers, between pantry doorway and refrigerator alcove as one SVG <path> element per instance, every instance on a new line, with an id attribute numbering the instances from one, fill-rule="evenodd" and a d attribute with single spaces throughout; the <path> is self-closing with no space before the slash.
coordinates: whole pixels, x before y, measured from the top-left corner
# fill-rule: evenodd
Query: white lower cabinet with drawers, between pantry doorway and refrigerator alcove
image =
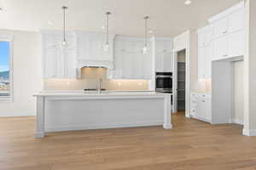
<path id="1" fill-rule="evenodd" d="M 212 122 L 211 94 L 195 94 L 190 96 L 190 115 L 204 122 Z"/>

